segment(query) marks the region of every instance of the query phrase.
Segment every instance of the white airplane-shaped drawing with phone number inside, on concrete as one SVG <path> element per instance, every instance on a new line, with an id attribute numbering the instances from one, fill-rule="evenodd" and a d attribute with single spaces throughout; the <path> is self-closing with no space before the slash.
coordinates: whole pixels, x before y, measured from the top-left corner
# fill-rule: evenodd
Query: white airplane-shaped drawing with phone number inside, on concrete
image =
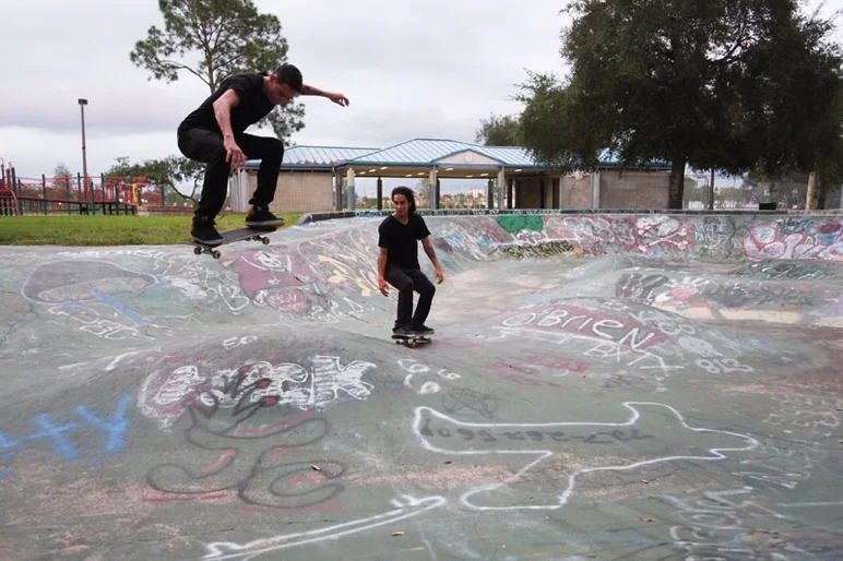
<path id="1" fill-rule="evenodd" d="M 413 432 L 420 442 L 422 446 L 425 450 L 428 450 L 430 452 L 437 452 L 440 454 L 446 454 L 449 457 L 455 456 L 455 455 L 462 455 L 462 456 L 479 456 L 479 455 L 525 455 L 525 456 L 534 456 L 533 459 L 529 461 L 523 467 L 521 467 L 513 476 L 507 478 L 502 482 L 498 484 L 491 484 L 491 485 L 482 485 L 474 489 L 471 489 L 470 491 L 465 492 L 461 498 L 460 502 L 467 506 L 468 509 L 478 510 L 478 511 L 491 511 L 491 510 L 506 510 L 506 511 L 512 511 L 512 510 L 557 510 L 565 506 L 568 501 L 571 498 L 571 494 L 574 491 L 577 477 L 580 475 L 593 473 L 593 472 L 609 472 L 609 470 L 617 470 L 617 472 L 628 472 L 638 469 L 643 466 L 653 465 L 653 464 L 660 464 L 664 462 L 675 462 L 679 459 L 685 461 L 701 461 L 701 462 L 712 462 L 712 461 L 719 461 L 719 459 L 725 459 L 726 455 L 724 453 L 727 452 L 746 452 L 749 450 L 755 449 L 758 446 L 758 441 L 755 440 L 751 437 L 748 437 L 746 434 L 740 434 L 737 432 L 729 432 L 725 430 L 716 430 L 716 429 L 705 429 L 700 427 L 691 427 L 688 425 L 685 420 L 685 417 L 675 408 L 670 407 L 669 405 L 661 404 L 661 403 L 648 403 L 648 402 L 625 402 L 624 407 L 629 409 L 630 416 L 626 421 L 622 422 L 589 422 L 589 421 L 573 421 L 573 422 L 547 422 L 547 423 L 484 423 L 484 422 L 464 422 L 458 419 L 454 419 L 452 417 L 449 417 L 442 413 L 439 413 L 436 409 L 432 409 L 430 407 L 416 407 L 414 409 L 414 416 L 413 416 Z M 648 413 L 650 415 L 658 415 L 660 417 L 665 418 L 672 418 L 672 420 L 678 425 L 680 425 L 682 428 L 685 428 L 688 431 L 691 431 L 690 434 L 682 435 L 681 438 L 685 439 L 685 441 L 688 441 L 691 437 L 699 433 L 709 433 L 709 434 L 720 434 L 725 439 L 737 439 L 739 442 L 735 442 L 735 444 L 743 444 L 743 445 L 725 445 L 725 446 L 716 446 L 716 447 L 709 447 L 707 454 L 699 454 L 699 455 L 666 455 L 661 457 L 654 457 L 650 459 L 642 459 L 639 462 L 631 462 L 626 465 L 614 465 L 614 466 L 594 466 L 594 467 L 585 467 L 577 469 L 573 473 L 570 473 L 567 478 L 567 486 L 561 490 L 559 494 L 557 494 L 554 498 L 550 498 L 546 504 L 538 504 L 539 498 L 535 498 L 536 500 L 531 501 L 531 504 L 517 504 L 517 505 L 509 505 L 509 506 L 486 506 L 486 505 L 479 505 L 475 502 L 475 496 L 478 493 L 487 493 L 490 491 L 495 491 L 497 489 L 500 489 L 509 484 L 513 484 L 522 478 L 527 472 L 536 467 L 542 462 L 550 458 L 555 452 L 553 450 L 547 450 L 543 447 L 534 447 L 534 444 L 536 443 L 536 440 L 538 437 L 535 437 L 534 439 L 529 439 L 527 437 L 524 437 L 523 439 L 517 439 L 521 442 L 513 442 L 512 439 L 509 439 L 506 441 L 506 449 L 490 449 L 490 450 L 460 450 L 460 449 L 443 449 L 439 445 L 435 444 L 434 442 L 438 442 L 439 440 L 443 440 L 440 437 L 443 437 L 446 434 L 444 431 L 448 431 L 447 434 L 450 435 L 450 433 L 460 433 L 463 434 L 464 438 L 467 438 L 467 432 L 459 432 L 460 430 L 468 430 L 472 431 L 472 429 L 479 430 L 479 431 L 486 431 L 488 434 L 487 437 L 484 437 L 483 440 L 486 442 L 489 442 L 489 439 L 494 439 L 491 435 L 492 432 L 496 430 L 500 431 L 501 429 L 506 430 L 517 430 L 519 432 L 524 432 L 525 434 L 529 434 L 529 432 L 539 432 L 543 429 L 568 429 L 569 431 L 580 431 L 581 434 L 574 434 L 569 435 L 570 439 L 579 439 L 581 441 L 585 441 L 585 437 L 582 434 L 583 429 L 589 429 L 589 432 L 592 434 L 593 431 L 599 430 L 601 428 L 620 428 L 620 427 L 634 427 L 640 420 L 642 413 L 640 409 L 644 409 L 645 411 L 650 409 Z M 655 410 L 653 410 L 655 409 Z M 656 413 L 657 411 L 657 413 Z M 423 433 L 423 429 L 426 428 L 426 421 L 429 422 L 431 419 L 438 420 L 438 422 L 444 423 L 443 428 L 438 429 L 436 432 L 429 430 L 429 428 L 425 431 L 427 434 Z M 654 421 L 655 426 L 664 425 L 663 420 L 658 420 L 657 422 Z M 451 429 L 453 428 L 453 429 Z M 527 431 L 527 432 L 525 432 Z M 472 431 L 473 432 L 473 431 Z M 628 438 L 628 437 L 624 437 Z M 450 442 L 450 440 L 449 440 Z M 605 443 L 612 443 L 610 439 L 606 439 Z M 523 450 L 517 450 L 517 445 L 521 444 L 523 445 Z M 626 449 L 628 451 L 628 449 Z"/>

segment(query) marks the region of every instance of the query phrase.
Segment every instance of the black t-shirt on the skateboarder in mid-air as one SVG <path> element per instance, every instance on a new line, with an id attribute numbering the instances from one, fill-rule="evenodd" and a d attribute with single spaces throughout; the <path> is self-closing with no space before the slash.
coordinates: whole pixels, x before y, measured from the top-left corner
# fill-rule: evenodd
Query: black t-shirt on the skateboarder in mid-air
<path id="1" fill-rule="evenodd" d="M 228 89 L 234 89 L 240 94 L 240 102 L 231 108 L 231 131 L 235 134 L 244 132 L 250 126 L 266 117 L 275 107 L 275 104 L 270 102 L 270 98 L 263 93 L 263 76 L 265 75 L 265 72 L 261 72 L 235 74 L 226 77 L 216 92 L 211 94 L 207 99 L 202 102 L 202 105 L 181 121 L 178 132 L 202 128 L 222 134 L 214 116 L 214 102 Z"/>

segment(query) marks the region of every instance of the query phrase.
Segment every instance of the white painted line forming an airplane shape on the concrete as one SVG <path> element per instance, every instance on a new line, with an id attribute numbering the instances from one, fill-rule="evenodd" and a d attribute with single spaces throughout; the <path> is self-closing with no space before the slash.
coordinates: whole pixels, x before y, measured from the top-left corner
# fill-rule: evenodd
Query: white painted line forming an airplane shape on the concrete
<path id="1" fill-rule="evenodd" d="M 486 491 L 492 491 L 495 489 L 498 489 L 500 487 L 503 487 L 517 479 L 519 479 L 522 475 L 524 475 L 526 472 L 529 472 L 532 467 L 534 467 L 536 464 L 542 462 L 543 459 L 546 459 L 555 454 L 554 451 L 550 450 L 466 450 L 466 451 L 454 451 L 454 450 L 444 450 L 437 447 L 430 442 L 428 442 L 428 439 L 424 437 L 420 433 L 420 426 L 422 426 L 422 414 L 426 413 L 430 416 L 437 417 L 440 420 L 451 422 L 453 425 L 460 426 L 460 427 L 474 427 L 474 428 L 482 428 L 482 429 L 495 429 L 495 428 L 504 428 L 504 427 L 514 427 L 514 428 L 529 428 L 529 429 L 536 429 L 536 428 L 556 428 L 556 427 L 631 427 L 636 422 L 638 422 L 639 418 L 641 417 L 641 414 L 633 406 L 657 406 L 657 407 L 664 407 L 674 416 L 676 419 L 688 430 L 694 431 L 694 432 L 716 432 L 720 434 L 727 434 L 729 437 L 736 437 L 739 439 L 744 439 L 748 442 L 747 446 L 744 447 L 715 447 L 715 449 L 709 449 L 709 456 L 664 456 L 664 457 L 657 457 L 654 459 L 644 459 L 641 462 L 636 462 L 633 464 L 629 464 L 626 466 L 601 466 L 601 467 L 589 467 L 589 468 L 582 468 L 578 469 L 573 474 L 568 476 L 568 487 L 562 491 L 561 494 L 557 497 L 557 503 L 556 504 L 548 504 L 548 505 L 523 505 L 523 506 L 478 506 L 475 504 L 472 504 L 471 497 L 480 492 Z M 703 429 L 699 427 L 691 427 L 687 422 L 685 422 L 685 417 L 670 407 L 669 405 L 665 405 L 663 403 L 654 403 L 654 402 L 624 402 L 624 407 L 629 409 L 631 411 L 631 415 L 629 419 L 625 422 L 584 422 L 584 421 L 573 421 L 573 422 L 544 422 L 544 423 L 517 423 L 517 422 L 501 422 L 501 423 L 485 423 L 485 422 L 464 422 L 456 420 L 452 417 L 449 417 L 448 415 L 444 415 L 442 413 L 437 411 L 436 409 L 432 409 L 430 407 L 416 407 L 413 410 L 413 433 L 415 437 L 422 442 L 422 446 L 425 447 L 425 450 L 428 450 L 430 452 L 438 452 L 440 454 L 448 454 L 448 455 L 482 455 L 482 454 L 518 454 L 518 455 L 532 455 L 537 454 L 538 457 L 534 459 L 533 462 L 530 462 L 527 465 L 519 469 L 519 472 L 513 475 L 512 477 L 507 478 L 500 484 L 492 484 L 492 485 L 484 485 L 480 487 L 476 487 L 474 489 L 471 489 L 470 491 L 463 493 L 460 497 L 460 502 L 473 510 L 477 511 L 509 511 L 509 510 L 557 510 L 561 509 L 566 505 L 568 500 L 570 499 L 571 494 L 573 493 L 574 489 L 574 482 L 577 479 L 577 476 L 580 474 L 589 474 L 592 472 L 608 472 L 608 470 L 629 470 L 629 469 L 636 469 L 642 466 L 652 465 L 652 464 L 658 464 L 662 462 L 670 462 L 675 459 L 702 459 L 702 461 L 714 461 L 714 459 L 725 459 L 726 456 L 722 454 L 722 452 L 746 452 L 749 450 L 755 449 L 759 445 L 759 442 L 746 434 L 740 434 L 738 432 L 731 432 L 726 430 L 717 430 L 717 429 Z"/>

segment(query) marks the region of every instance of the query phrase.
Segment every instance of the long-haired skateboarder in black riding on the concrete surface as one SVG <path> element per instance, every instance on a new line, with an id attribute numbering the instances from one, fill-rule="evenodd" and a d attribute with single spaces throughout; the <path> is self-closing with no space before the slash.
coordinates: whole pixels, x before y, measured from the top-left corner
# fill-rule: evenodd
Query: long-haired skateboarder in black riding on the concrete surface
<path id="1" fill-rule="evenodd" d="M 422 240 L 425 253 L 434 263 L 438 284 L 444 280 L 442 267 L 428 238 L 430 230 L 427 229 L 425 219 L 416 214 L 413 191 L 407 187 L 396 187 L 392 190 L 392 203 L 395 205 L 395 212 L 387 216 L 378 227 L 378 288 L 383 296 L 389 296 L 387 283 L 399 290 L 399 311 L 392 330 L 393 335 L 430 335 L 434 330 L 425 325 L 425 320 L 430 313 L 436 287 L 418 264 L 418 240 Z M 415 314 L 413 291 L 418 293 Z"/>

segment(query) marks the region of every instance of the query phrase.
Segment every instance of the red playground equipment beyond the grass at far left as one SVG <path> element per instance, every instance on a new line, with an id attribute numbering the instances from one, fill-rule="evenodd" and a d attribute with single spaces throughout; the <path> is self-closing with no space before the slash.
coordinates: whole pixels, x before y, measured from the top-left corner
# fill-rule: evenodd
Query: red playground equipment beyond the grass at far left
<path id="1" fill-rule="evenodd" d="M 163 187 L 145 177 L 17 177 L 2 169 L 0 216 L 34 214 L 138 214 L 164 204 Z"/>

